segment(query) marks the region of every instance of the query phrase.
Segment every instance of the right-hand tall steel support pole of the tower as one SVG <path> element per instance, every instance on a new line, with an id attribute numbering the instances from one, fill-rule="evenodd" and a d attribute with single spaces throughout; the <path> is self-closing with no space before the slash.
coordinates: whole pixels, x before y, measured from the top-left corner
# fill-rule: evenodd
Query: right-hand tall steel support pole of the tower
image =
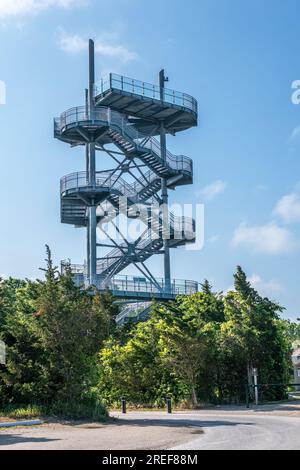
<path id="1" fill-rule="evenodd" d="M 161 70 L 159 72 L 159 88 L 160 88 L 160 100 L 164 102 L 164 94 L 165 94 L 165 82 L 167 78 L 165 77 L 165 71 Z M 167 139 L 166 139 L 166 130 L 164 121 L 161 121 L 160 125 L 160 147 L 161 147 L 161 157 L 164 161 L 167 160 Z M 169 226 L 169 210 L 168 210 L 168 203 L 169 203 L 169 196 L 168 196 L 168 187 L 167 187 L 167 180 L 162 178 L 161 180 L 161 198 L 164 207 L 163 213 L 163 234 L 164 234 L 164 275 L 165 275 L 165 290 L 166 292 L 171 291 L 171 266 L 170 266 L 170 248 L 169 248 L 169 240 L 166 238 Z"/>

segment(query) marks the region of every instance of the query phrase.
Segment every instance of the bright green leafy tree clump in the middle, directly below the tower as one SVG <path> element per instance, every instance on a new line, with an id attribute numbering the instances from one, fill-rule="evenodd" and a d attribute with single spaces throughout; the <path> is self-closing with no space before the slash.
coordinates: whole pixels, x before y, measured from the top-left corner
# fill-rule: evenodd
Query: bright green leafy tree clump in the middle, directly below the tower
<path id="1" fill-rule="evenodd" d="M 154 304 L 148 321 L 126 329 L 100 353 L 100 393 L 110 402 L 122 395 L 162 404 L 207 398 L 215 387 L 215 336 L 224 318 L 222 298 L 211 290 Z"/>

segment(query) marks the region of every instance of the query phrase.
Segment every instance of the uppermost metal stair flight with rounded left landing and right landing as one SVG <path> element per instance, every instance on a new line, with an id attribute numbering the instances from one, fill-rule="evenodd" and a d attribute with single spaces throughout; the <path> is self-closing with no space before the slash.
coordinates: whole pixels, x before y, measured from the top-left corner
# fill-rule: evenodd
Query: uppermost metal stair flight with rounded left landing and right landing
<path id="1" fill-rule="evenodd" d="M 161 155 L 157 139 L 139 132 L 126 116 L 110 108 L 100 107 L 87 116 L 84 106 L 72 108 L 54 120 L 54 136 L 73 146 L 86 145 L 94 139 L 115 144 L 129 159 L 139 158 L 161 178 L 177 176 L 174 186 L 193 183 L 193 162 L 184 155 L 166 152 Z"/>

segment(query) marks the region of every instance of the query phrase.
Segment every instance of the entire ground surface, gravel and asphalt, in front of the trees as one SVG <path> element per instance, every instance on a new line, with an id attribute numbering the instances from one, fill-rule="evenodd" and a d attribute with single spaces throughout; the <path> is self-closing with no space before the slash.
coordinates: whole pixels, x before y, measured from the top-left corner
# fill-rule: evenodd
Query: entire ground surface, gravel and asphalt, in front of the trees
<path id="1" fill-rule="evenodd" d="M 48 423 L 0 431 L 10 449 L 300 450 L 300 405 L 176 412 L 112 413 L 109 424 Z"/>

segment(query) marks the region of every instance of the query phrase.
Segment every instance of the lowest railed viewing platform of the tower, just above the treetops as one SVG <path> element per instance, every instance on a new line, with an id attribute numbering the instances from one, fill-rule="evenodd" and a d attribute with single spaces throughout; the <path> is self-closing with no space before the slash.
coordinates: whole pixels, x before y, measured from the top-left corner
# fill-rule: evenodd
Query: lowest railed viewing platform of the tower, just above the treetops
<path id="1" fill-rule="evenodd" d="M 62 272 L 66 264 L 62 263 Z M 87 285 L 86 269 L 84 265 L 70 265 L 75 284 L 80 287 Z M 177 295 L 192 295 L 199 290 L 196 281 L 172 279 L 171 286 L 166 286 L 164 279 L 155 279 L 150 282 L 140 276 L 116 276 L 110 280 L 97 277 L 96 287 L 100 292 L 109 289 L 115 297 L 122 299 L 139 300 L 174 300 Z"/>

